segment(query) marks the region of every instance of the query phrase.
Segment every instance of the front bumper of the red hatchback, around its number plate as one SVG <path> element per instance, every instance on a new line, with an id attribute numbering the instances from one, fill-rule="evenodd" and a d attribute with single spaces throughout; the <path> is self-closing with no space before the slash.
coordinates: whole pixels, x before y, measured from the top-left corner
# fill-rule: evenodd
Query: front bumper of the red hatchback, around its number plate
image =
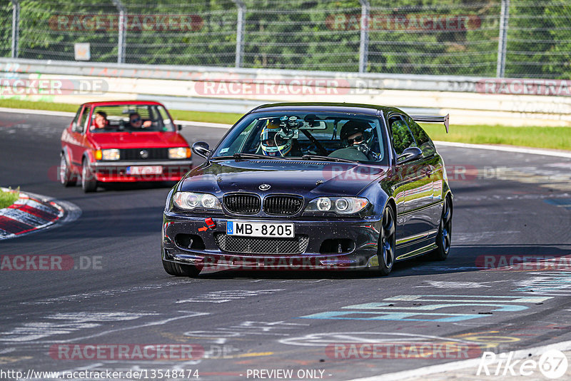
<path id="1" fill-rule="evenodd" d="M 162 173 L 128 174 L 128 167 L 161 166 Z M 192 169 L 191 160 L 172 161 L 97 161 L 91 171 L 102 183 L 133 183 L 137 181 L 179 181 Z"/>

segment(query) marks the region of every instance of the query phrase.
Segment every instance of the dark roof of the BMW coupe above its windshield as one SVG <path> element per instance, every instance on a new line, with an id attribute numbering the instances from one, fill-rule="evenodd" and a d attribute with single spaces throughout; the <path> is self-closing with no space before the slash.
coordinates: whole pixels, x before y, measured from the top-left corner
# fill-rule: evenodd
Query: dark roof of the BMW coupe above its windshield
<path id="1" fill-rule="evenodd" d="M 343 112 L 365 113 L 378 115 L 381 111 L 400 111 L 398 108 L 389 106 L 377 106 L 360 103 L 328 103 L 328 102 L 299 102 L 299 103 L 268 103 L 253 109 L 253 113 L 265 111 L 315 111 L 315 112 Z M 402 111 L 400 111 L 402 112 Z"/>

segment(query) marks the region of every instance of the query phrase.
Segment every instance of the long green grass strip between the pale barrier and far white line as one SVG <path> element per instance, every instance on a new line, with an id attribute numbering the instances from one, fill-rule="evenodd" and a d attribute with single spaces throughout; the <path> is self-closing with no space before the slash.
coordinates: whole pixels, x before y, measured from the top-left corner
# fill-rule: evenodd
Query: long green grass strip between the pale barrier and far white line
<path id="1" fill-rule="evenodd" d="M 36 110 L 77 111 L 77 106 L 68 103 L 46 101 L 20 101 L 2 99 L 2 107 L 33 108 Z M 233 124 L 238 121 L 238 113 L 208 113 L 201 111 L 170 110 L 173 118 L 181 121 L 197 121 Z M 423 124 L 430 138 L 435 141 L 456 141 L 474 144 L 507 144 L 535 148 L 571 150 L 571 127 L 508 127 L 508 126 L 450 126 L 446 133 L 440 124 Z"/>

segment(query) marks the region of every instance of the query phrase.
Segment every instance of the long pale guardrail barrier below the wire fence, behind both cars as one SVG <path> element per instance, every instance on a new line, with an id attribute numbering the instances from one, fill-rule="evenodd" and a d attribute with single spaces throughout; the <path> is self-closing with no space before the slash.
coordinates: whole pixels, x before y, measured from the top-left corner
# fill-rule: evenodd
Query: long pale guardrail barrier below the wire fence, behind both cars
<path id="1" fill-rule="evenodd" d="M 38 79 L 56 81 L 60 91 L 34 93 L 17 86 L 37 86 Z M 571 126 L 571 81 L 23 59 L 0 59 L 0 81 L 0 99 L 152 98 L 173 109 L 233 113 L 274 101 L 372 103 L 411 113 L 450 113 L 456 124 Z"/>

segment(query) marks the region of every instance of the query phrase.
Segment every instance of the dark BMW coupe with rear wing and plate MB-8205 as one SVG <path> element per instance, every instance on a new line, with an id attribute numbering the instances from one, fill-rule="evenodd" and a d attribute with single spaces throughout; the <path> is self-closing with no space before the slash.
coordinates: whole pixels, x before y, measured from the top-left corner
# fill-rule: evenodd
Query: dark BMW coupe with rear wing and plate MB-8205
<path id="1" fill-rule="evenodd" d="M 453 195 L 433 142 L 398 108 L 274 103 L 243 116 L 168 193 L 168 274 L 363 269 L 450 251 Z"/>

